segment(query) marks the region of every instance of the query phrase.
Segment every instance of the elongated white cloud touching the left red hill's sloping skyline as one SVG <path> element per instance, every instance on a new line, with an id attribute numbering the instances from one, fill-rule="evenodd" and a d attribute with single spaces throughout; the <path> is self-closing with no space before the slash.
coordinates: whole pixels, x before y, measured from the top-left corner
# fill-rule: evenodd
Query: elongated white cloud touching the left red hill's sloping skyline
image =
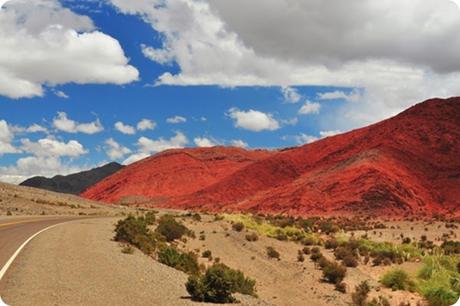
<path id="1" fill-rule="evenodd" d="M 183 148 L 188 144 L 187 137 L 182 132 L 176 134 L 170 139 L 160 137 L 153 140 L 147 137 L 140 137 L 137 141 L 138 151 L 123 161 L 123 164 L 130 164 L 140 159 L 150 156 L 152 153 L 161 152 L 167 149 Z"/>

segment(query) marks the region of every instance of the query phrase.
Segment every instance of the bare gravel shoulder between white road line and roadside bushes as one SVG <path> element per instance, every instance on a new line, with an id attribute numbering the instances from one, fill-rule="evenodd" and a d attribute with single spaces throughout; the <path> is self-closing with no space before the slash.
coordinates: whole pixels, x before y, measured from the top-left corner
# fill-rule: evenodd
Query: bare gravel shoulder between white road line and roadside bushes
<path id="1" fill-rule="evenodd" d="M 42 233 L 0 282 L 15 305 L 202 305 L 190 301 L 187 275 L 111 241 L 117 219 L 72 221 Z M 244 305 L 267 305 L 238 296 Z"/>

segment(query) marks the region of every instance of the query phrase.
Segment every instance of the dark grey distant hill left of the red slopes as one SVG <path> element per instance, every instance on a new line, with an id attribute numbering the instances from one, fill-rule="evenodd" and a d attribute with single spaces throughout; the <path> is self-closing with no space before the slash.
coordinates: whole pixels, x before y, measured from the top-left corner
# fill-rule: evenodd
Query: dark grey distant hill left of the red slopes
<path id="1" fill-rule="evenodd" d="M 56 175 L 53 178 L 35 176 L 19 185 L 78 195 L 123 167 L 123 165 L 112 162 L 102 167 L 66 176 Z"/>

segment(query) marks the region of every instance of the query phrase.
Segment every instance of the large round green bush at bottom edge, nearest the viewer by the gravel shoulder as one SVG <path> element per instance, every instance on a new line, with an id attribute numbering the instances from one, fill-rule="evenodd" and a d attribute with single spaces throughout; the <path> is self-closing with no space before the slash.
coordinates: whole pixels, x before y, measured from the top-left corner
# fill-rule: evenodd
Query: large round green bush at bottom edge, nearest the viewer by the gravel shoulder
<path id="1" fill-rule="evenodd" d="M 223 264 L 214 264 L 201 276 L 190 276 L 185 284 L 192 299 L 200 302 L 233 303 L 233 293 L 255 294 L 255 281 L 241 271 Z"/>

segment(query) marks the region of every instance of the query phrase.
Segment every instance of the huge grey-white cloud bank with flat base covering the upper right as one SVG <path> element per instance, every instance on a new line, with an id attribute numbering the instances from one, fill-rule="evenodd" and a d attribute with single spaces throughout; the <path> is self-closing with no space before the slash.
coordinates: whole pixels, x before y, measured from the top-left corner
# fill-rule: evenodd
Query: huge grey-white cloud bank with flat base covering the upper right
<path id="1" fill-rule="evenodd" d="M 346 129 L 460 94 L 460 10 L 449 0 L 111 1 L 161 33 L 151 59 L 179 71 L 157 84 L 359 88 L 338 111 Z"/>

